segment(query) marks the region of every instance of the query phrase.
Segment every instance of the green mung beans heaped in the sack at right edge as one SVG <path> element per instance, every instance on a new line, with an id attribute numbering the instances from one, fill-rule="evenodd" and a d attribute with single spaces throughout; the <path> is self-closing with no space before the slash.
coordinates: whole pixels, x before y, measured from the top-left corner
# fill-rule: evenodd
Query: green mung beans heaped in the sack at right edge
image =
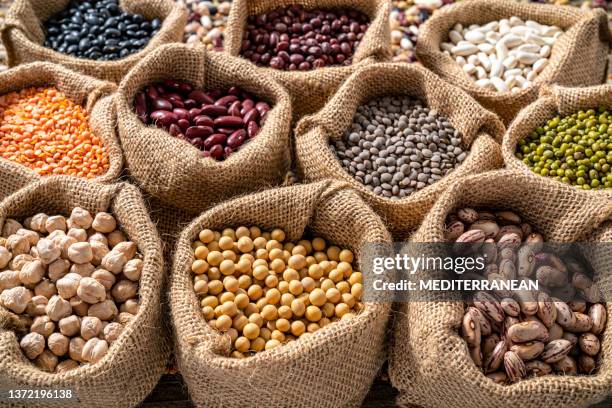
<path id="1" fill-rule="evenodd" d="M 545 177 L 585 190 L 610 188 L 611 125 L 604 107 L 557 116 L 521 139 L 516 157 Z"/>

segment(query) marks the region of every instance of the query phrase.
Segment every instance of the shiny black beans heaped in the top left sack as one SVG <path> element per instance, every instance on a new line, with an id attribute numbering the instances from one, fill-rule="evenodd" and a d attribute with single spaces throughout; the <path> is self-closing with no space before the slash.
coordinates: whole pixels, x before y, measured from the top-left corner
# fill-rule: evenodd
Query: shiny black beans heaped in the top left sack
<path id="1" fill-rule="evenodd" d="M 45 47 L 78 58 L 110 61 L 140 51 L 161 27 L 119 8 L 117 0 L 72 0 L 44 23 Z"/>

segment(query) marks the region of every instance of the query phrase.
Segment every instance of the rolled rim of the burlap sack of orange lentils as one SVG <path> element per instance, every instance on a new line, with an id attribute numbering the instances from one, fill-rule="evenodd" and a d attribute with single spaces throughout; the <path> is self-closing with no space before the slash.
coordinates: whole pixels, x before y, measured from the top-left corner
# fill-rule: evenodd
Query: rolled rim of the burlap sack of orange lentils
<path id="1" fill-rule="evenodd" d="M 16 76 L 17 80 L 13 79 Z M 21 78 L 22 76 L 32 76 L 32 78 Z M 40 87 L 40 86 L 55 86 L 59 91 L 65 92 L 69 87 L 70 77 L 79 77 L 83 85 L 85 86 L 80 90 L 80 100 L 73 100 L 71 94 L 74 92 L 67 92 L 67 97 L 72 102 L 81 105 L 87 111 L 91 123 L 91 114 L 96 105 L 99 102 L 107 103 L 108 112 L 96 112 L 96 116 L 104 116 L 105 121 L 115 121 L 114 106 L 110 103 L 110 95 L 117 89 L 117 86 L 112 82 L 102 81 L 75 71 L 65 68 L 58 64 L 50 62 L 32 62 L 29 64 L 20 65 L 15 68 L 0 72 L 0 93 L 5 94 L 13 91 L 19 91 L 28 87 Z M 21 80 L 20 80 L 21 79 Z M 74 96 L 74 95 L 73 95 Z M 102 109 L 103 111 L 105 109 Z M 117 135 L 113 130 L 113 134 L 108 134 L 99 128 L 100 125 L 92 127 L 93 132 L 100 137 L 104 147 L 106 148 L 109 168 L 106 173 L 90 179 L 99 183 L 111 183 L 121 174 L 123 169 L 123 153 L 119 146 Z M 7 170 L 12 173 L 23 174 L 24 179 L 31 179 L 32 181 L 40 178 L 56 177 L 51 176 L 40 176 L 34 170 L 29 167 L 22 165 L 17 162 L 10 161 L 8 159 L 0 158 L 2 166 L 6 166 Z"/>

